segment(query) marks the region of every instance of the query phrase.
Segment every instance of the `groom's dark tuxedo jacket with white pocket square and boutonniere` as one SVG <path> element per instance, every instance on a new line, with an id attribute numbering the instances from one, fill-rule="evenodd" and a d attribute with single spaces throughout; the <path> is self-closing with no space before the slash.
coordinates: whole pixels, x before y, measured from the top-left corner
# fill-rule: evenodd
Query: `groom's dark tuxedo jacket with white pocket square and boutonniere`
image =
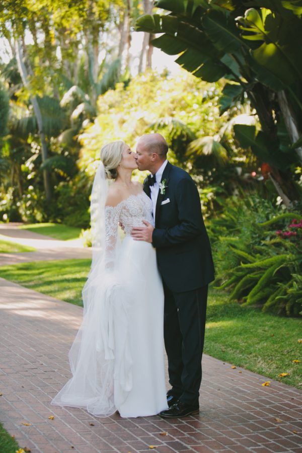
<path id="1" fill-rule="evenodd" d="M 200 288 L 214 280 L 209 238 L 197 187 L 190 175 L 170 162 L 162 176 L 152 244 L 164 282 L 174 292 Z M 150 197 L 147 178 L 145 193 Z"/>

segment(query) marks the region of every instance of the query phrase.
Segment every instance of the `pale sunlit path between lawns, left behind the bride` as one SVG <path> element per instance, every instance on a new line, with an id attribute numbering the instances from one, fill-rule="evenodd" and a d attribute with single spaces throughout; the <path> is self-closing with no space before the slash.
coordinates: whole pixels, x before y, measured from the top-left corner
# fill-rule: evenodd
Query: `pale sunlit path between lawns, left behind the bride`
<path id="1" fill-rule="evenodd" d="M 6 240 L 34 247 L 36 252 L 0 253 L 0 266 L 72 258 L 90 258 L 91 249 L 82 246 L 80 240 L 59 241 L 49 236 L 27 230 L 20 230 L 23 223 L 0 223 L 0 235 Z"/>

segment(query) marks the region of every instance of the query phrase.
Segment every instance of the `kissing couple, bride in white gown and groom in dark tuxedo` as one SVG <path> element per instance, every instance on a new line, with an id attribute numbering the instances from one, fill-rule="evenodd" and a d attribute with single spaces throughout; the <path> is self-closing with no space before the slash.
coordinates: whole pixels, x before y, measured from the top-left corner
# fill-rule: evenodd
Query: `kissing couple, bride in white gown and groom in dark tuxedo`
<path id="1" fill-rule="evenodd" d="M 214 267 L 198 190 L 187 172 L 168 162 L 167 152 L 158 133 L 140 137 L 135 153 L 123 141 L 101 149 L 83 322 L 69 352 L 72 378 L 54 405 L 83 407 L 99 417 L 199 413 Z M 151 173 L 143 185 L 131 181 L 137 168 Z"/>

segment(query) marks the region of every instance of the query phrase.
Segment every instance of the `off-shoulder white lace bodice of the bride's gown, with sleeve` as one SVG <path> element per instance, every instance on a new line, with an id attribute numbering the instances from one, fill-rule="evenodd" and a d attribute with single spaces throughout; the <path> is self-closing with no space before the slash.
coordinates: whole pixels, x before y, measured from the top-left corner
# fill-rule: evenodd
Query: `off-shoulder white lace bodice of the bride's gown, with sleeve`
<path id="1" fill-rule="evenodd" d="M 107 263 L 114 259 L 118 223 L 124 226 L 124 232 L 129 236 L 133 226 L 144 226 L 142 220 L 154 225 L 152 212 L 152 201 L 144 192 L 130 195 L 116 206 L 105 207 Z"/>

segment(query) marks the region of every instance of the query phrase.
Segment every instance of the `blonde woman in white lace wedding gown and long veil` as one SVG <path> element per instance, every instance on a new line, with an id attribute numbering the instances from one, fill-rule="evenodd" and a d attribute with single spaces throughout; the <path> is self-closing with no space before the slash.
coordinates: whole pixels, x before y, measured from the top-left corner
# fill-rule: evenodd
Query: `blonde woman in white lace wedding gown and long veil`
<path id="1" fill-rule="evenodd" d="M 102 147 L 91 196 L 93 260 L 83 288 L 84 316 L 69 351 L 72 378 L 51 402 L 99 417 L 116 410 L 122 417 L 148 416 L 168 408 L 156 251 L 130 236 L 142 220 L 154 224 L 152 201 L 131 181 L 135 168 L 125 142 Z M 114 179 L 109 188 L 108 179 Z"/>

